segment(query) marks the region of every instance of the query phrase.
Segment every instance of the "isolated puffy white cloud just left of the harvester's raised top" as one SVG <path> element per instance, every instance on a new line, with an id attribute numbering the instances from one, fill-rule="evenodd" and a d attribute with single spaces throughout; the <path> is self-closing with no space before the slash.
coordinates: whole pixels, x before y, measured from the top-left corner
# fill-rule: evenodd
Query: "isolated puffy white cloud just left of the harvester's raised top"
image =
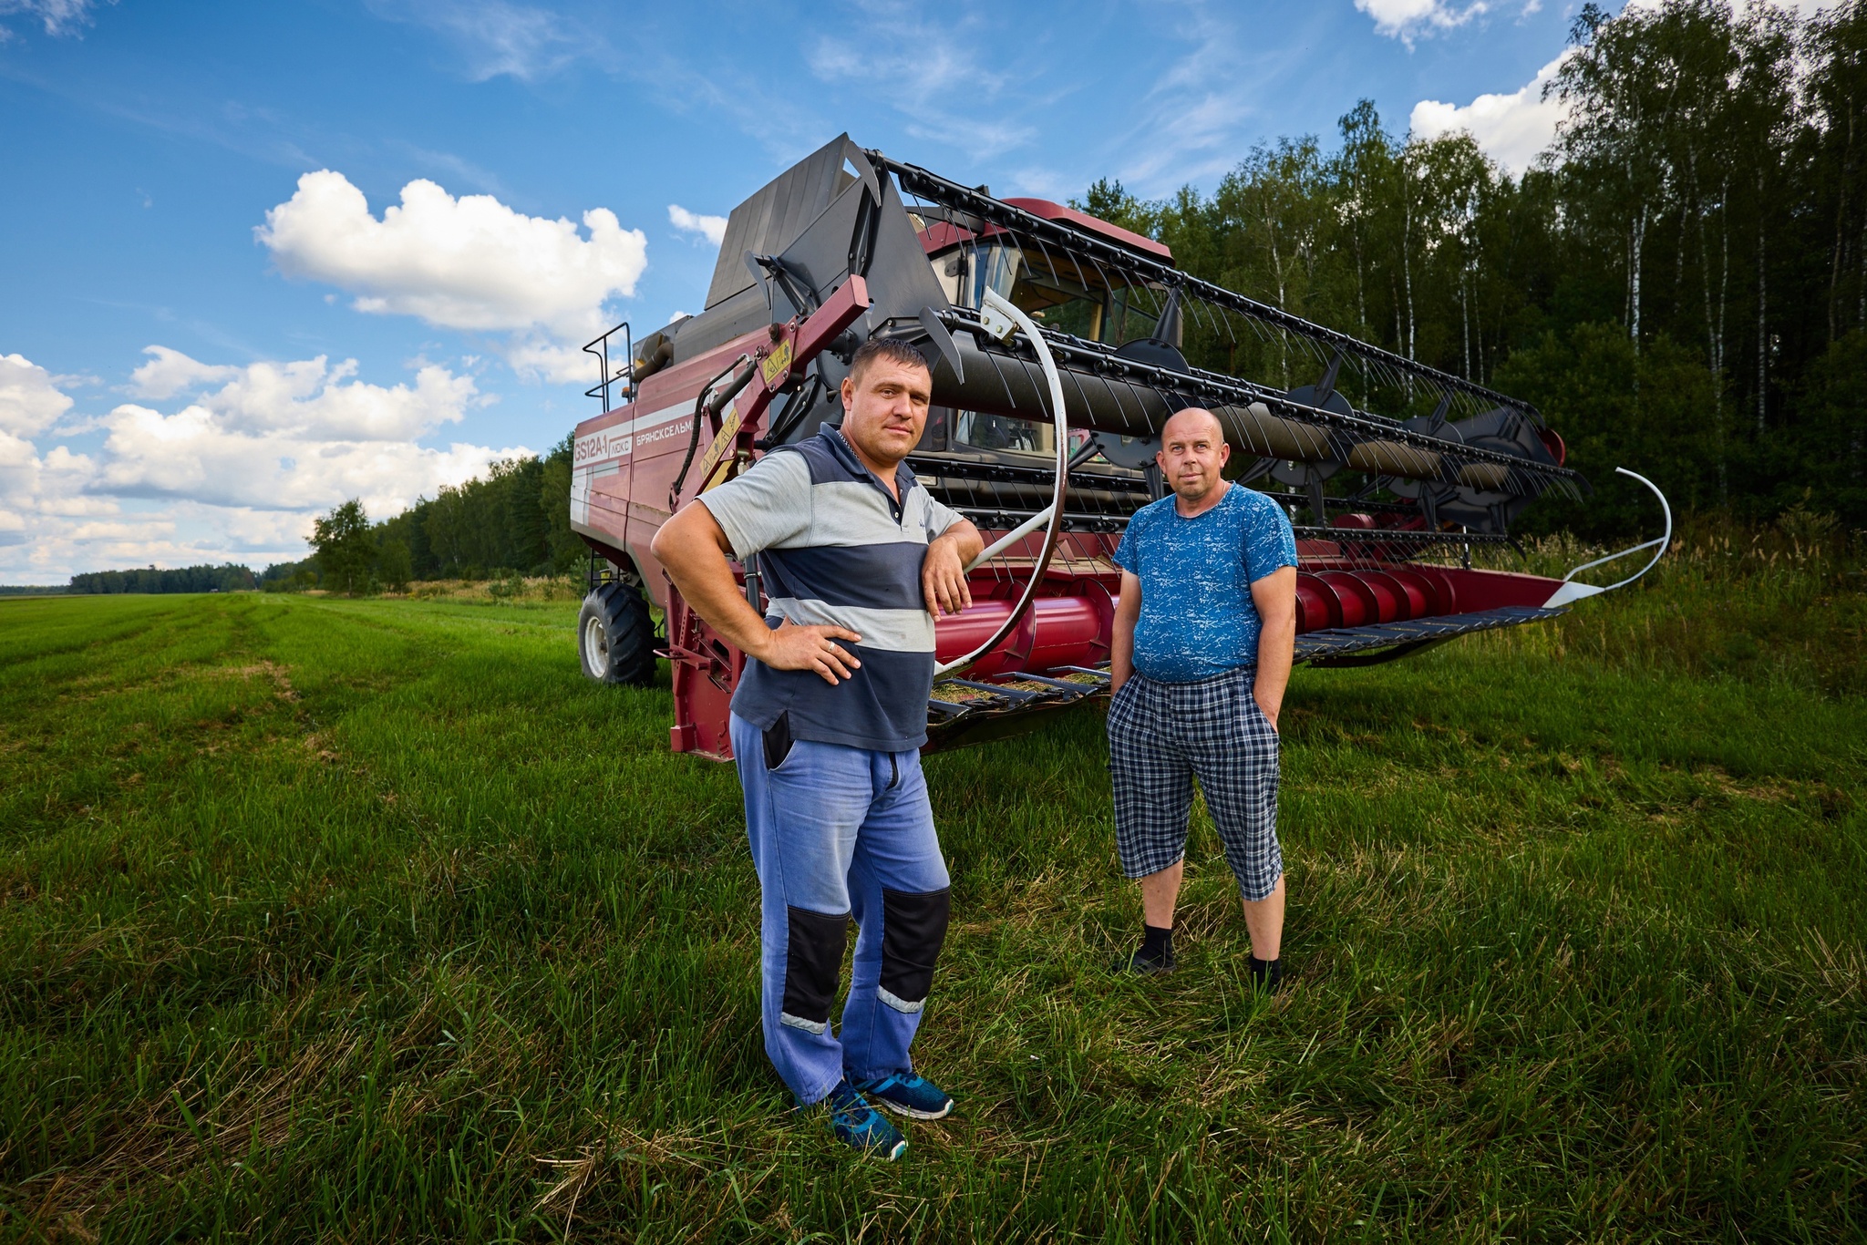
<path id="1" fill-rule="evenodd" d="M 319 170 L 254 233 L 282 273 L 345 289 L 360 312 L 568 342 L 601 332 L 603 302 L 631 297 L 648 267 L 648 239 L 616 213 L 594 207 L 583 228 L 491 194 L 454 198 L 428 179 L 405 185 L 377 218 L 344 174 Z"/>

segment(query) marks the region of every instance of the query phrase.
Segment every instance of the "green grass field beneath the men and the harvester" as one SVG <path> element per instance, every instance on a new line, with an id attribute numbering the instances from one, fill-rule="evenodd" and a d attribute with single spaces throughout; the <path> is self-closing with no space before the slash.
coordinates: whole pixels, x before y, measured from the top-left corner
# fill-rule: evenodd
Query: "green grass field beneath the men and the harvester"
<path id="1" fill-rule="evenodd" d="M 1182 971 L 1107 972 L 1100 719 L 932 758 L 960 1111 L 892 1167 L 786 1112 L 734 775 L 575 601 L 4 601 L 0 1234 L 1860 1238 L 1852 575 L 1299 670 L 1273 1000 L 1202 814 Z"/>

